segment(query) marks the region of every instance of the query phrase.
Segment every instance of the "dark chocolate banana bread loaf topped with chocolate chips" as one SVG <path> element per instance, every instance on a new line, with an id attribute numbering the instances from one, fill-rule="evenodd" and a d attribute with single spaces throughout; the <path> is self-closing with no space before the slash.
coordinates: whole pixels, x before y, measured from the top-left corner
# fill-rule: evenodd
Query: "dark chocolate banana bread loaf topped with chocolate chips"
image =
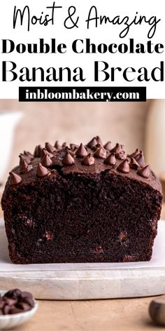
<path id="1" fill-rule="evenodd" d="M 96 136 L 24 151 L 1 204 L 16 264 L 136 262 L 152 257 L 162 189 L 142 151 Z"/>

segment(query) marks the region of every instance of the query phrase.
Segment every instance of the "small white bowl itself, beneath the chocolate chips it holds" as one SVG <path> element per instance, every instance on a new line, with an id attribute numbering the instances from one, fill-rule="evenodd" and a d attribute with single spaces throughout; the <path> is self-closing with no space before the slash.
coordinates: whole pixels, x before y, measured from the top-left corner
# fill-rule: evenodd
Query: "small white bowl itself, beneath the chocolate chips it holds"
<path id="1" fill-rule="evenodd" d="M 1 295 L 4 295 L 6 291 L 1 291 Z M 24 313 L 13 313 L 12 315 L 1 315 L 0 316 L 0 330 L 8 330 L 11 327 L 15 327 L 21 325 L 27 320 L 29 320 L 36 310 L 38 309 L 38 302 L 34 300 L 34 307 L 29 311 L 25 311 Z"/>

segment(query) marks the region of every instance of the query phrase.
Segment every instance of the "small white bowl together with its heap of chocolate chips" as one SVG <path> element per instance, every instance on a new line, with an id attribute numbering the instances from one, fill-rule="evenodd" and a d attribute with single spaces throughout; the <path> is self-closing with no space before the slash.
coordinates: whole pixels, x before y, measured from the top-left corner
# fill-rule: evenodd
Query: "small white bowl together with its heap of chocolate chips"
<path id="1" fill-rule="evenodd" d="M 0 292 L 0 330 L 27 322 L 38 309 L 38 303 L 30 292 L 18 289 Z"/>

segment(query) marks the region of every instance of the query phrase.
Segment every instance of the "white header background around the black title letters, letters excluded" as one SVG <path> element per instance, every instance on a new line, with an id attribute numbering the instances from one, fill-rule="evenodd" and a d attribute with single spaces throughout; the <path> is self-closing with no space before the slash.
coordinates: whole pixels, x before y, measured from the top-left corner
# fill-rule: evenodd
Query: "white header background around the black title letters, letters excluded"
<path id="1" fill-rule="evenodd" d="M 124 81 L 122 74 L 118 73 L 115 82 L 103 81 L 94 82 L 94 60 L 108 62 L 109 67 L 134 67 L 138 70 L 140 67 L 147 67 L 150 69 L 159 66 L 160 61 L 164 61 L 165 51 L 162 54 L 121 54 L 121 53 L 105 53 L 105 54 L 76 54 L 71 50 L 71 44 L 75 39 L 90 38 L 91 42 L 99 43 L 128 43 L 129 38 L 134 38 L 135 43 L 146 43 L 148 41 L 148 30 L 150 26 L 132 25 L 130 27 L 129 34 L 124 39 L 120 39 L 119 34 L 124 29 L 124 25 L 101 25 L 94 27 L 94 23 L 90 23 L 90 29 L 87 29 L 87 16 L 89 8 L 96 6 L 99 15 L 107 15 L 111 19 L 116 15 L 120 15 L 123 18 L 125 15 L 129 15 L 130 21 L 134 19 L 136 11 L 139 15 L 145 15 L 150 18 L 152 15 L 156 15 L 157 19 L 161 18 L 161 22 L 157 25 L 155 36 L 152 38 L 152 43 L 164 43 L 165 32 L 165 17 L 164 17 L 164 1 L 147 1 L 147 0 L 60 0 L 55 1 L 56 6 L 62 6 L 62 9 L 57 9 L 55 13 L 55 25 L 31 25 L 30 31 L 27 32 L 27 27 L 16 27 L 13 29 L 13 10 L 14 6 L 17 8 L 24 8 L 28 5 L 31 11 L 31 16 L 36 15 L 39 17 L 41 11 L 45 14 L 50 13 L 46 6 L 52 6 L 52 0 L 6 0 L 0 2 L 0 52 L 1 52 L 1 39 L 12 39 L 16 43 L 36 43 L 39 38 L 44 38 L 45 42 L 50 42 L 51 38 L 55 38 L 57 43 L 66 43 L 67 52 L 65 54 L 18 54 L 13 52 L 10 54 L 1 53 L 0 61 L 0 98 L 17 98 L 18 86 L 147 86 L 148 98 L 164 98 L 165 97 L 165 83 L 155 82 L 150 80 L 149 82 L 133 82 Z M 68 16 L 69 6 L 76 6 L 76 15 L 80 17 L 78 21 L 78 28 L 66 29 L 64 27 L 64 20 Z M 62 82 L 42 82 L 40 80 L 36 82 L 2 82 L 2 61 L 13 61 L 17 64 L 17 74 L 22 67 L 43 67 L 48 69 L 49 67 L 82 67 L 86 80 L 82 82 L 67 82 L 66 79 Z M 136 76 L 136 75 L 135 75 Z"/>

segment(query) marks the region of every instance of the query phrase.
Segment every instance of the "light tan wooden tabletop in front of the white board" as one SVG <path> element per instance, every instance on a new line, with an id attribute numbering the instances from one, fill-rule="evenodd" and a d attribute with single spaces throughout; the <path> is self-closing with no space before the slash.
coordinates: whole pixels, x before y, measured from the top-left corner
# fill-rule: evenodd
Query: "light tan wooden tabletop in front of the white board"
<path id="1" fill-rule="evenodd" d="M 2 216 L 0 209 L 0 217 Z M 40 300 L 36 315 L 13 331 L 143 331 L 164 330 L 152 324 L 152 297 L 85 301 Z"/>

